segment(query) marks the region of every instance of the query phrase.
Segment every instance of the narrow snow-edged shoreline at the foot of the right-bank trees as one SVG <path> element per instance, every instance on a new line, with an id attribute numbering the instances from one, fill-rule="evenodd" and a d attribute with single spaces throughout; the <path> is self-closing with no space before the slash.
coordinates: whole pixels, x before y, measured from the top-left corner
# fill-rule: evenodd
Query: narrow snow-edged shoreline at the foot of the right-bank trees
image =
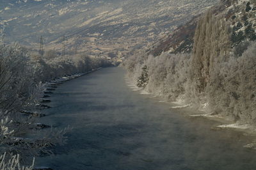
<path id="1" fill-rule="evenodd" d="M 230 116 L 224 116 L 223 114 L 213 114 L 211 111 L 207 109 L 195 109 L 195 107 L 191 107 L 190 104 L 186 104 L 183 101 L 171 102 L 166 100 L 163 96 L 159 95 L 159 93 L 150 93 L 144 88 L 139 88 L 132 81 L 131 77 L 128 75 L 125 76 L 126 86 L 130 88 L 132 91 L 136 91 L 136 93 L 140 95 L 148 95 L 149 98 L 158 101 L 159 103 L 164 103 L 170 105 L 170 112 L 179 112 L 187 116 L 190 119 L 207 119 L 215 121 L 214 126 L 211 127 L 212 130 L 234 130 L 236 132 L 243 133 L 244 137 L 250 136 L 250 142 L 244 144 L 246 148 L 256 149 L 256 128 L 249 123 L 244 123 L 242 121 L 234 121 Z M 201 107 L 202 108 L 202 107 Z"/>

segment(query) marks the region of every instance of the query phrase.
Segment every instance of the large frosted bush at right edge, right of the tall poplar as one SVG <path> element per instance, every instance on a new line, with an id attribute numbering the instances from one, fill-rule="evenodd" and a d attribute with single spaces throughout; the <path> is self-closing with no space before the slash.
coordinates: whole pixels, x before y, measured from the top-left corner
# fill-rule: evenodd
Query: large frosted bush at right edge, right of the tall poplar
<path id="1" fill-rule="evenodd" d="M 212 109 L 235 120 L 256 123 L 256 42 L 238 57 L 230 54 L 211 72 L 207 98 Z"/>

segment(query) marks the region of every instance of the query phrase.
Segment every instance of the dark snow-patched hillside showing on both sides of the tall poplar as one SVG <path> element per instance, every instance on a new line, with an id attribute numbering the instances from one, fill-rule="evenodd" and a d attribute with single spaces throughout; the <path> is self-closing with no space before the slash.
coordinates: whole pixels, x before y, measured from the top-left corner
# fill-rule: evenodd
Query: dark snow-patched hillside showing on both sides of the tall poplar
<path id="1" fill-rule="evenodd" d="M 211 8 L 213 15 L 225 18 L 230 24 L 230 36 L 233 47 L 245 39 L 255 40 L 255 1 L 222 0 L 217 6 Z M 193 17 L 186 24 L 179 26 L 170 35 L 150 47 L 150 54 L 158 56 L 161 52 L 179 53 L 191 52 L 193 37 L 200 15 Z"/>

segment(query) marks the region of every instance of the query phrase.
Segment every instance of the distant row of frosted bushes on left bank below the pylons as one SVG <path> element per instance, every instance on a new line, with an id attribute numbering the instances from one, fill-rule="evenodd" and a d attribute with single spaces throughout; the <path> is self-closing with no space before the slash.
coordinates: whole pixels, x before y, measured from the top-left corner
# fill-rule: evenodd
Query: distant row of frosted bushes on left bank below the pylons
<path id="1" fill-rule="evenodd" d="M 45 52 L 44 56 L 34 54 L 30 56 L 30 59 L 35 82 L 51 81 L 65 75 L 84 73 L 93 68 L 111 66 L 111 63 L 104 58 L 90 58 L 86 54 L 60 56 L 54 50 Z"/>

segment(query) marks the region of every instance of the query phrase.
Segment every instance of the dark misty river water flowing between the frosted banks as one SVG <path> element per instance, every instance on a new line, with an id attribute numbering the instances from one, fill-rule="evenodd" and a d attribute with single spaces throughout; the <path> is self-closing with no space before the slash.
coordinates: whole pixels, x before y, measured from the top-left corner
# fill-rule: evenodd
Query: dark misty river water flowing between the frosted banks
<path id="1" fill-rule="evenodd" d="M 41 121 L 73 127 L 51 157 L 54 169 L 256 169 L 246 137 L 211 130 L 216 122 L 188 118 L 125 86 L 122 68 L 104 68 L 61 85 Z"/>

